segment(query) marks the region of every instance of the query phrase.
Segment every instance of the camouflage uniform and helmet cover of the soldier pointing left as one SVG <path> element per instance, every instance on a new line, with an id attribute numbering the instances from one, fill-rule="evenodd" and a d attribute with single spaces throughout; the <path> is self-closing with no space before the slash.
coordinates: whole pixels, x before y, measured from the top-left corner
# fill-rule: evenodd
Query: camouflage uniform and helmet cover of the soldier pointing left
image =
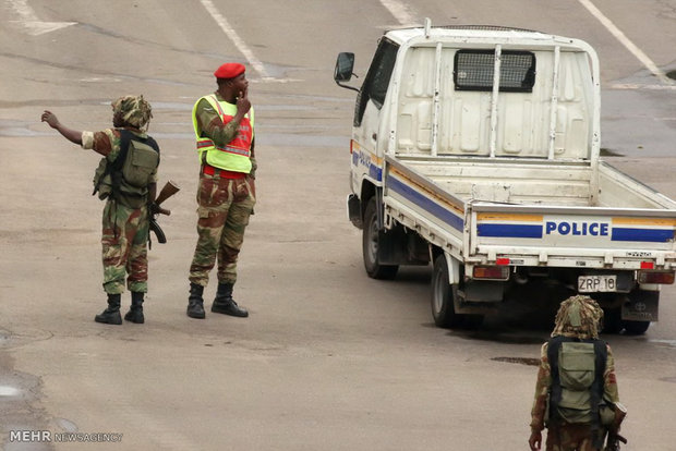
<path id="1" fill-rule="evenodd" d="M 121 113 L 125 124 L 134 135 L 146 138 L 141 130 L 147 127 L 152 117 L 149 105 L 143 96 L 125 96 L 112 103 L 113 112 Z M 112 163 L 120 155 L 120 130 L 107 129 L 101 132 L 83 132 L 82 147 L 101 154 L 108 163 Z M 157 170 L 150 175 L 148 183 L 157 182 Z M 148 211 L 147 206 L 132 208 L 124 205 L 123 199 L 117 200 L 108 196 L 102 215 L 102 263 L 104 290 L 108 294 L 124 292 L 126 287 L 132 292 L 147 293 L 148 280 Z"/>

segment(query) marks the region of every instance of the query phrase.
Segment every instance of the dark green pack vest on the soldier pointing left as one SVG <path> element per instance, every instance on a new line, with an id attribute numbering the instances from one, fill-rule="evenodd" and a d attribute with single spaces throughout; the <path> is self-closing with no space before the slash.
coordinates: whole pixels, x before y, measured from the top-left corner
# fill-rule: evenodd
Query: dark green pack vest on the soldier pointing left
<path id="1" fill-rule="evenodd" d="M 148 202 L 148 185 L 159 166 L 159 146 L 152 137 L 142 138 L 120 130 L 120 153 L 114 161 L 104 157 L 94 173 L 94 192 L 105 199 L 112 196 L 122 205 L 141 208 Z"/>

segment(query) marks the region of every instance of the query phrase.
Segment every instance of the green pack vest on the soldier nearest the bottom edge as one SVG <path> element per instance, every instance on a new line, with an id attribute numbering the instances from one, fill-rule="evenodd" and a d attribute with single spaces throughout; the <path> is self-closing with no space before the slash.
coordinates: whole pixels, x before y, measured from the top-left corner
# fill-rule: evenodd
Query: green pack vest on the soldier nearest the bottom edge
<path id="1" fill-rule="evenodd" d="M 550 422 L 584 423 L 597 428 L 607 361 L 605 342 L 555 337 L 548 343 Z"/>

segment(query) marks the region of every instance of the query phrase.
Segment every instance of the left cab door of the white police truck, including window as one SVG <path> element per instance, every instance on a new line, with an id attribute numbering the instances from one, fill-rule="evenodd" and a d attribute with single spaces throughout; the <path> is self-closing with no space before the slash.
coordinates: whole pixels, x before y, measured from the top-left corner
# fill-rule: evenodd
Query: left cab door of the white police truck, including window
<path id="1" fill-rule="evenodd" d="M 385 124 L 381 124 L 381 115 L 387 88 L 391 78 L 399 46 L 388 39 L 383 39 L 371 62 L 371 68 L 364 80 L 354 108 L 353 136 L 360 153 L 357 164 L 375 164 L 379 170 L 366 168 L 375 181 L 382 181 L 383 148 L 387 144 Z M 381 134 L 384 134 L 381 136 Z M 354 163 L 354 160 L 353 160 Z"/>

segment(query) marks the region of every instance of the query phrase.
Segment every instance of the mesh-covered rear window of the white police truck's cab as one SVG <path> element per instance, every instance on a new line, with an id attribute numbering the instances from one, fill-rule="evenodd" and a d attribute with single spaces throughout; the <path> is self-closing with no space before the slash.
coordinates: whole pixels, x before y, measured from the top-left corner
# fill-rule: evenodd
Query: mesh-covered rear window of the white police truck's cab
<path id="1" fill-rule="evenodd" d="M 495 51 L 458 50 L 455 58 L 456 90 L 493 90 Z M 532 93 L 535 84 L 535 56 L 529 51 L 503 51 L 500 92 Z"/>

